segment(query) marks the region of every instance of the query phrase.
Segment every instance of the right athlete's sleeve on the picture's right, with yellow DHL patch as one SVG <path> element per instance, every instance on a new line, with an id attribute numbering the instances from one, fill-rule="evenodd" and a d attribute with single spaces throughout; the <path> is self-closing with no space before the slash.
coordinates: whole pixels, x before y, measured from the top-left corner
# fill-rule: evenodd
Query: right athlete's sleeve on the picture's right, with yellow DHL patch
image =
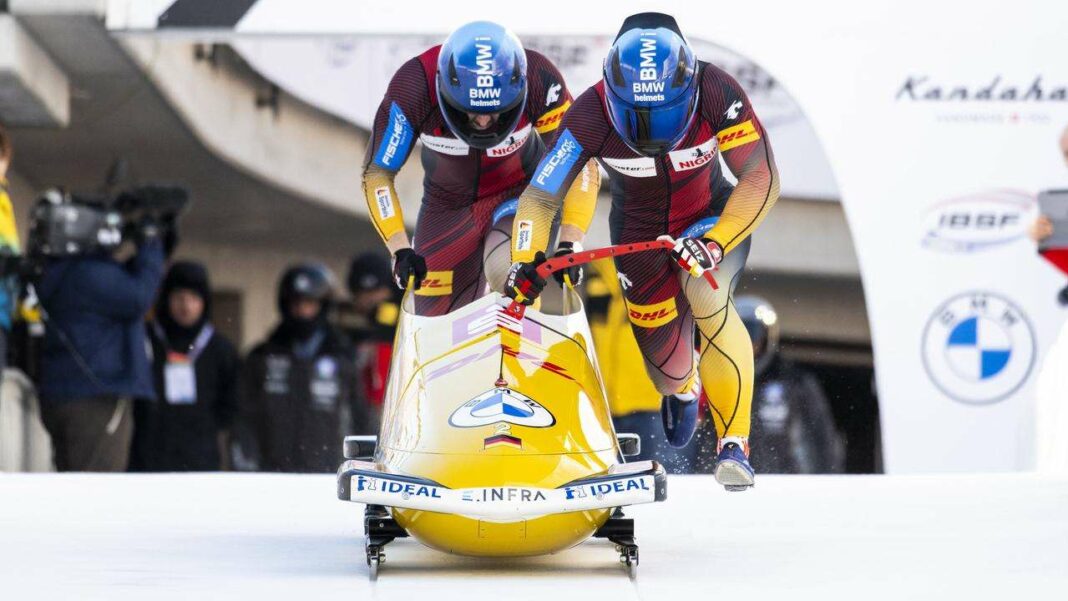
<path id="1" fill-rule="evenodd" d="M 723 213 L 705 234 L 728 252 L 745 240 L 779 200 L 779 170 L 771 143 L 738 82 L 706 65 L 701 82 L 701 110 L 712 124 L 716 141 L 738 185 Z"/>

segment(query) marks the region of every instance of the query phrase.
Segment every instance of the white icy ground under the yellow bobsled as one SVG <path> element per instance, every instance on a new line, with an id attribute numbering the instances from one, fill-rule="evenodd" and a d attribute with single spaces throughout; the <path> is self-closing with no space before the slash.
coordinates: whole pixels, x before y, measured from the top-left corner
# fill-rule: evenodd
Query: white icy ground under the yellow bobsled
<path id="1" fill-rule="evenodd" d="M 387 548 L 332 476 L 0 474 L 2 599 L 1066 599 L 1068 478 L 672 476 L 612 545 L 529 559 Z M 745 597 L 739 597 L 744 595 Z M 685 596 L 685 597 L 684 597 Z"/>

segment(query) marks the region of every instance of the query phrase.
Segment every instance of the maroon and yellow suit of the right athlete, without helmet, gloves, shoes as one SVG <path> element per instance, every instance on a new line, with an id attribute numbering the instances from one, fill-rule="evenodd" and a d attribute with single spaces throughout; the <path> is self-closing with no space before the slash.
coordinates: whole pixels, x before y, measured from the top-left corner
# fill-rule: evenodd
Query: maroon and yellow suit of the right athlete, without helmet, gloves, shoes
<path id="1" fill-rule="evenodd" d="M 675 149 L 641 156 L 615 132 L 598 82 L 575 101 L 520 197 L 513 260 L 530 262 L 546 249 L 551 217 L 582 165 L 596 158 L 612 181 L 609 217 L 613 243 L 661 235 L 704 237 L 725 252 L 714 275 L 718 291 L 680 272 L 668 253 L 618 257 L 631 327 L 646 370 L 661 394 L 694 383 L 694 323 L 702 332 L 700 373 L 720 436 L 749 433 L 752 347 L 731 302 L 749 252 L 749 235 L 779 196 L 779 176 L 767 133 L 737 81 L 700 63 L 698 108 Z M 732 186 L 720 165 L 737 176 Z"/>

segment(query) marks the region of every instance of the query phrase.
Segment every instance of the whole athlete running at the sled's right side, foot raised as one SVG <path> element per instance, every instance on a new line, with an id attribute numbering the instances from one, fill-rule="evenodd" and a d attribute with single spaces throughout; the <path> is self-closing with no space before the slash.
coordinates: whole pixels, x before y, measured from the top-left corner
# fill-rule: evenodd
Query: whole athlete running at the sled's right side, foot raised
<path id="1" fill-rule="evenodd" d="M 505 294 L 529 304 L 541 291 L 536 268 L 554 216 L 586 162 L 598 159 L 612 183 L 612 242 L 666 236 L 674 243 L 670 255 L 615 259 L 646 370 L 664 395 L 668 439 L 676 446 L 691 439 L 704 385 L 720 437 L 716 478 L 727 490 L 752 487 L 753 348 L 731 297 L 750 234 L 779 197 L 779 174 L 749 98 L 694 57 L 673 17 L 643 13 L 624 21 L 603 80 L 579 96 L 560 128 L 519 197 Z M 718 289 L 701 281 L 710 269 L 724 284 Z"/>

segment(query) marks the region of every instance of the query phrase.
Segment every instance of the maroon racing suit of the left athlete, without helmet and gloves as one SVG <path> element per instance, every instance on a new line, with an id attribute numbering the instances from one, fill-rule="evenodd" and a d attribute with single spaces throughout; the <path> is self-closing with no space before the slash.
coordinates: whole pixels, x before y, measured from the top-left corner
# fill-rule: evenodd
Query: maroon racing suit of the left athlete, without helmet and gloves
<path id="1" fill-rule="evenodd" d="M 404 232 L 393 177 L 408 160 L 417 138 L 423 144 L 424 192 L 413 240 L 428 270 L 415 290 L 420 315 L 441 315 L 480 298 L 487 280 L 494 287 L 503 284 L 515 199 L 530 181 L 546 144 L 554 141 L 571 105 L 556 67 L 543 54 L 527 50 L 527 105 L 515 131 L 497 146 L 472 148 L 453 135 L 438 106 L 440 50 L 440 46 L 430 48 L 393 76 L 375 116 L 364 163 L 371 217 L 379 235 L 389 241 Z M 598 186 L 590 179 L 583 178 L 583 187 L 592 217 Z M 588 219 L 577 225 L 584 231 Z M 500 258 L 490 260 L 494 252 Z"/>

